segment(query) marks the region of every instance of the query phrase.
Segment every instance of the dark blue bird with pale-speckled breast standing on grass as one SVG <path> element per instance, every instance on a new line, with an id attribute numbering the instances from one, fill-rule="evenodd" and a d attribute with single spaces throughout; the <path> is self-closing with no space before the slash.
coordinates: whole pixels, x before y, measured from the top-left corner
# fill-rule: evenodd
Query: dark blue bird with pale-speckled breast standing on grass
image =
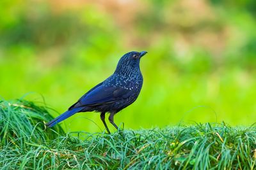
<path id="1" fill-rule="evenodd" d="M 114 116 L 138 98 L 143 85 L 140 59 L 146 53 L 145 51 L 125 53 L 111 76 L 90 89 L 67 111 L 45 125 L 53 127 L 76 113 L 96 111 L 100 113 L 100 119 L 108 134 L 110 131 L 105 121 L 106 113 L 109 113 L 109 122 L 118 130 Z"/>

